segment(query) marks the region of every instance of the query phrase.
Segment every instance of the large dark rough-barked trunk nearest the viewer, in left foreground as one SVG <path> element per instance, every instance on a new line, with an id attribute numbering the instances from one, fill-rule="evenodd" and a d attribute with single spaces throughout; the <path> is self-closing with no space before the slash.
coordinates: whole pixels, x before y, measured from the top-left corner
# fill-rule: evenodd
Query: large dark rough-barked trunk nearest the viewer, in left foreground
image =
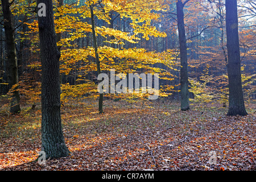
<path id="1" fill-rule="evenodd" d="M 46 158 L 68 156 L 60 117 L 60 52 L 56 44 L 52 1 L 46 5 L 46 16 L 38 17 L 40 57 L 42 61 L 42 151 Z"/>

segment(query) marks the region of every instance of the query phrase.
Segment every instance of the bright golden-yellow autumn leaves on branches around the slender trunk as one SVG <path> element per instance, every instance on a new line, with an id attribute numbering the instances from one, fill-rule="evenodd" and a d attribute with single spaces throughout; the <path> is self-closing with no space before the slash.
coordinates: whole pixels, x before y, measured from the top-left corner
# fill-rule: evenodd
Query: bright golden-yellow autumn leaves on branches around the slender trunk
<path id="1" fill-rule="evenodd" d="M 22 1 L 22 0 L 19 0 Z M 93 5 L 93 14 L 98 20 L 104 21 L 105 25 L 110 24 L 110 14 L 118 14 L 119 18 L 129 19 L 129 24 L 133 28 L 133 33 L 98 26 L 96 24 L 96 36 L 105 38 L 107 45 L 117 44 L 118 48 L 109 46 L 98 47 L 101 71 L 115 69 L 116 73 L 159 73 L 160 78 L 165 80 L 174 79 L 170 69 L 174 69 L 177 64 L 174 61 L 176 52 L 167 50 L 161 53 L 149 52 L 142 48 L 122 48 L 125 43 L 137 43 L 143 39 L 148 40 L 151 36 L 166 37 L 164 32 L 160 32 L 157 27 L 152 26 L 152 22 L 157 22 L 160 18 L 158 11 L 166 11 L 167 5 L 164 0 L 106 0 L 99 3 L 98 0 L 77 1 L 72 5 L 64 5 L 54 9 L 55 11 L 55 31 L 56 33 L 68 34 L 66 38 L 61 38 L 57 46 L 61 46 L 60 73 L 66 76 L 76 73 L 75 85 L 61 85 L 61 102 L 76 100 L 76 98 L 96 97 L 97 86 L 92 81 L 81 81 L 89 72 L 96 71 L 95 51 L 93 47 L 77 48 L 75 40 L 85 38 L 88 32 L 92 32 L 90 24 L 90 8 Z M 55 2 L 57 3 L 57 1 Z M 26 23 L 30 31 L 26 34 L 33 34 L 31 40 L 32 51 L 39 52 L 38 49 L 38 22 Z M 109 39 L 109 38 L 112 39 Z M 155 64 L 162 64 L 163 67 L 155 67 Z M 39 69 L 40 64 L 31 64 L 30 67 Z M 139 70 L 138 70 L 139 69 Z M 79 79 L 77 79 L 79 78 Z M 167 96 L 161 89 L 160 95 Z M 140 96 L 142 97 L 142 96 Z M 143 96 L 144 97 L 144 96 Z"/>

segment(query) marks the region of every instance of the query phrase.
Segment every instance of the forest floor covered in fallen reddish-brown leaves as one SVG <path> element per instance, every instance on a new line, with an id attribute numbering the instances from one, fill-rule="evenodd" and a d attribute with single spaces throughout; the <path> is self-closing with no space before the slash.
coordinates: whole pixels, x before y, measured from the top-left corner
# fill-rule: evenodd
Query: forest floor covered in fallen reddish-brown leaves
<path id="1" fill-rule="evenodd" d="M 0 113 L 0 170 L 256 170 L 256 105 L 245 117 L 227 108 L 174 102 L 97 100 L 61 108 L 68 157 L 35 161 L 40 108 Z"/>

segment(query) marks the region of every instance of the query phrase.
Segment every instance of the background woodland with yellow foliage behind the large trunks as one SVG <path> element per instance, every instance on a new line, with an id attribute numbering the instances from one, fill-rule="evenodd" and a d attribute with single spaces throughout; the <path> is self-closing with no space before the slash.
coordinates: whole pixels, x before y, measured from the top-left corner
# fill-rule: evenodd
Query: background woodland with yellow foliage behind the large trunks
<path id="1" fill-rule="evenodd" d="M 60 2 L 60 3 L 58 3 Z M 176 1 L 53 1 L 57 46 L 61 51 L 61 103 L 82 104 L 84 98 L 96 98 L 97 66 L 93 47 L 89 2 L 94 3 L 94 23 L 101 72 L 160 73 L 160 94 L 170 100 L 181 100 L 179 34 Z M 185 3 L 187 1 L 180 1 Z M 210 7 L 210 3 L 213 3 Z M 35 2 L 19 0 L 11 5 L 18 62 L 19 92 L 22 104 L 39 105 L 40 75 L 38 22 Z M 245 102 L 255 98 L 255 14 L 252 1 L 238 1 L 238 28 Z M 210 12 L 216 12 L 210 15 Z M 1 18 L 0 90 L 9 89 L 7 45 Z M 189 1 L 184 6 L 184 30 L 187 42 L 190 98 L 194 95 L 212 98 L 228 106 L 226 64 L 225 2 Z M 184 36 L 183 36 L 184 38 Z M 207 70 L 207 72 L 205 72 Z M 205 73 L 212 78 L 205 84 Z M 202 93 L 196 89 L 207 86 Z M 197 87 L 197 88 L 196 88 Z M 126 98 L 123 94 L 106 97 Z M 144 97 L 137 95 L 136 97 Z M 165 97 L 165 98 L 167 98 Z M 162 99 L 162 97 L 159 97 Z M 195 100 L 193 100 L 195 101 Z M 193 104 L 193 103 L 192 103 Z"/>

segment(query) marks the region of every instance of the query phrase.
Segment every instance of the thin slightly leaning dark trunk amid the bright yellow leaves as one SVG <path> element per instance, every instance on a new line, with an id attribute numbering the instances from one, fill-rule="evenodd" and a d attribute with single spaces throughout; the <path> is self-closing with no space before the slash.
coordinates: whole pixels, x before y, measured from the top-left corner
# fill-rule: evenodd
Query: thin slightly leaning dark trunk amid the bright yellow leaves
<path id="1" fill-rule="evenodd" d="M 101 67 L 100 67 L 100 59 L 98 57 L 98 46 L 97 46 L 96 33 L 95 33 L 93 5 L 90 5 L 90 20 L 91 20 L 91 23 L 92 23 L 93 47 L 94 47 L 94 52 L 95 52 L 97 73 L 98 73 L 98 75 L 100 75 L 101 74 Z M 100 93 L 100 98 L 98 100 L 98 111 L 100 113 L 103 113 L 103 93 Z"/>

